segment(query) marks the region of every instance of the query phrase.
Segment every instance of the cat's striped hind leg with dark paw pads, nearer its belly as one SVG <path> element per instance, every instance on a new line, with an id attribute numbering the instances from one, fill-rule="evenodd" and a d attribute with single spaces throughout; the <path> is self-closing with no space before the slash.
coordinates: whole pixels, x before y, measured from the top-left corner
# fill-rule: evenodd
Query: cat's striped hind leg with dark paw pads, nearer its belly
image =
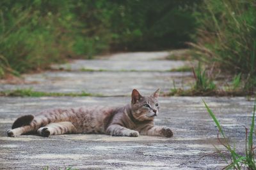
<path id="1" fill-rule="evenodd" d="M 40 136 L 48 137 L 54 134 L 76 133 L 76 127 L 71 122 L 58 122 L 47 124 L 37 130 Z"/>

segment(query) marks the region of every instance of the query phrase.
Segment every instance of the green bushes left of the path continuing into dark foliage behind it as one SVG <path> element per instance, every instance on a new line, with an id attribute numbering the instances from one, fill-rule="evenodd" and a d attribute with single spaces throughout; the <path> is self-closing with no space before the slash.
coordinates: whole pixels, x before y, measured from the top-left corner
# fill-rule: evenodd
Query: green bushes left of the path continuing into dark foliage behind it
<path id="1" fill-rule="evenodd" d="M 108 50 L 184 46 L 200 1 L 2 0 L 0 77 Z M 16 73 L 16 72 L 15 72 Z"/>

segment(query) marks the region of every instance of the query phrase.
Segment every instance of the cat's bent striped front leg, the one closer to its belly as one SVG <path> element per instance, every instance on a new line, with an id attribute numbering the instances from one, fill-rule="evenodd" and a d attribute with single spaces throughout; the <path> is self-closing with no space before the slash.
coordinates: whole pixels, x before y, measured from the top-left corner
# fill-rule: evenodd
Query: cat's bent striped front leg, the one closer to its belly
<path id="1" fill-rule="evenodd" d="M 138 137 L 140 134 L 138 131 L 133 131 L 131 129 L 127 129 L 121 125 L 109 125 L 108 129 L 106 130 L 107 134 L 112 136 L 130 136 L 130 137 Z"/>

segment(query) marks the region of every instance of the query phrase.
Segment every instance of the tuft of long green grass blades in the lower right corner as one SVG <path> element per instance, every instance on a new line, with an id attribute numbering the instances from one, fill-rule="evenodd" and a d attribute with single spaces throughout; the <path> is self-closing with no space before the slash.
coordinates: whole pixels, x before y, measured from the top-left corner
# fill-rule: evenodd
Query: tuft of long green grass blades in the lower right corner
<path id="1" fill-rule="evenodd" d="M 205 108 L 207 109 L 209 115 L 211 116 L 212 120 L 214 121 L 214 123 L 216 124 L 221 136 L 223 136 L 223 138 L 225 139 L 225 141 L 227 140 L 227 136 L 225 135 L 225 133 L 223 132 L 223 129 L 220 125 L 220 122 L 218 121 L 218 119 L 215 117 L 214 113 L 211 111 L 211 109 L 209 108 L 209 106 L 207 106 L 207 104 L 205 103 L 205 101 L 203 100 Z M 254 103 L 254 108 L 253 108 L 253 115 L 252 115 L 252 124 L 250 126 L 250 132 L 249 132 L 249 136 L 248 136 L 248 129 L 245 127 L 245 131 L 246 131 L 246 139 L 245 139 L 245 153 L 244 155 L 241 155 L 239 153 L 236 152 L 236 148 L 232 147 L 228 142 L 223 143 L 221 142 L 219 135 L 218 135 L 218 139 L 219 142 L 221 143 L 221 145 L 225 146 L 225 148 L 227 149 L 228 153 L 230 153 L 230 159 L 231 162 L 224 167 L 223 169 L 241 169 L 244 167 L 244 169 L 256 169 L 256 162 L 255 162 L 255 146 L 253 146 L 253 131 L 254 131 L 254 124 L 255 124 L 255 110 L 256 110 L 256 99 L 255 99 L 255 103 Z M 218 150 L 218 152 L 220 153 L 221 157 L 223 157 L 223 159 L 227 162 L 227 157 L 225 157 L 225 155 L 223 155 L 220 150 Z M 228 163 L 228 162 L 227 162 Z"/>

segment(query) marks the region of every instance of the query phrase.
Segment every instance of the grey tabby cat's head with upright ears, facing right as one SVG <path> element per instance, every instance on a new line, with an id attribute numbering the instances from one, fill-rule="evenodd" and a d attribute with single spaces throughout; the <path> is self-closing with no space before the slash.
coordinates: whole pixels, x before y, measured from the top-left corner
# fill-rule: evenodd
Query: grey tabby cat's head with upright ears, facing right
<path id="1" fill-rule="evenodd" d="M 159 114 L 159 89 L 150 96 L 141 96 L 138 90 L 132 90 L 132 116 L 138 121 L 153 120 Z"/>

